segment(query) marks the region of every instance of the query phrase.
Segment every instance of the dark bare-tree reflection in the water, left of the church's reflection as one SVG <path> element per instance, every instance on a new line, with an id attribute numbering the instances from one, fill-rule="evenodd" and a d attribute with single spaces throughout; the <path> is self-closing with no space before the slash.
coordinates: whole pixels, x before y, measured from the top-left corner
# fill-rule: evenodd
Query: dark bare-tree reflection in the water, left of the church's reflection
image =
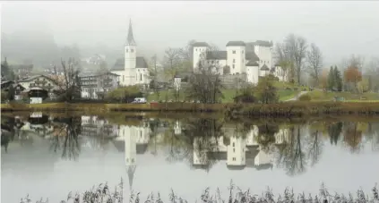
<path id="1" fill-rule="evenodd" d="M 50 149 L 54 152 L 62 150 L 62 158 L 76 160 L 81 153 L 79 143 L 80 122 L 78 118 L 57 118 L 56 128 L 51 138 Z"/>

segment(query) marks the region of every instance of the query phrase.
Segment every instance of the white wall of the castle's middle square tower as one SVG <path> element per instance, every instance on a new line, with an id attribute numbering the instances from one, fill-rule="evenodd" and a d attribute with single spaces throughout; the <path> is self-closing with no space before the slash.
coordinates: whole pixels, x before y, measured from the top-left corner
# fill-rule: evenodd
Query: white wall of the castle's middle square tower
<path id="1" fill-rule="evenodd" d="M 230 74 L 245 72 L 245 47 L 227 47 L 227 55 L 227 64 L 230 66 Z"/>

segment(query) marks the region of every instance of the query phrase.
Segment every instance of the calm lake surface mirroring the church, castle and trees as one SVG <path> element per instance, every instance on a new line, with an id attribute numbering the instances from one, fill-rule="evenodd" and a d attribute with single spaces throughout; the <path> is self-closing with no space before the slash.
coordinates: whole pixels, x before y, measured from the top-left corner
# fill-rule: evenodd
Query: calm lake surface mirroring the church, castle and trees
<path id="1" fill-rule="evenodd" d="M 174 190 L 193 202 L 207 187 L 228 197 L 230 182 L 257 194 L 314 194 L 322 183 L 348 194 L 379 181 L 379 121 L 117 116 L 2 114 L 2 202 L 59 202 L 121 179 L 126 196 Z"/>

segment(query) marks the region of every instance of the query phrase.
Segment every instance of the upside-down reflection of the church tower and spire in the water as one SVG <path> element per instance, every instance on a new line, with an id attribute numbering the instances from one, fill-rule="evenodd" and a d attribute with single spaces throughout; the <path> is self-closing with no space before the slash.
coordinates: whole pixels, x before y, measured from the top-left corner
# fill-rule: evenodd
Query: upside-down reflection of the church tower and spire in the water
<path id="1" fill-rule="evenodd" d="M 134 180 L 134 173 L 136 165 L 136 158 L 137 158 L 137 140 L 136 136 L 134 136 L 132 133 L 125 133 L 124 135 L 124 142 L 125 142 L 125 166 L 126 166 L 126 173 L 129 180 L 129 190 L 132 192 L 133 189 L 133 180 Z"/>

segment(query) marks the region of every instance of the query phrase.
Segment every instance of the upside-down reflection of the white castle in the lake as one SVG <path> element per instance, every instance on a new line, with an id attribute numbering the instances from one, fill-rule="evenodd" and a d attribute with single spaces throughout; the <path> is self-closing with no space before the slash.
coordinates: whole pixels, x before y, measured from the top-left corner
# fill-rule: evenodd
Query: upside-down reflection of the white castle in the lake
<path id="1" fill-rule="evenodd" d="M 272 168 L 273 156 L 270 152 L 262 150 L 258 144 L 258 127 L 247 133 L 237 132 L 235 128 L 224 128 L 225 136 L 211 139 L 213 148 L 201 149 L 202 137 L 194 140 L 195 168 L 207 168 L 212 161 L 226 160 L 230 170 L 242 170 L 245 167 L 254 167 L 257 170 Z M 289 130 L 280 129 L 274 134 L 275 144 L 280 145 L 289 141 Z"/>

